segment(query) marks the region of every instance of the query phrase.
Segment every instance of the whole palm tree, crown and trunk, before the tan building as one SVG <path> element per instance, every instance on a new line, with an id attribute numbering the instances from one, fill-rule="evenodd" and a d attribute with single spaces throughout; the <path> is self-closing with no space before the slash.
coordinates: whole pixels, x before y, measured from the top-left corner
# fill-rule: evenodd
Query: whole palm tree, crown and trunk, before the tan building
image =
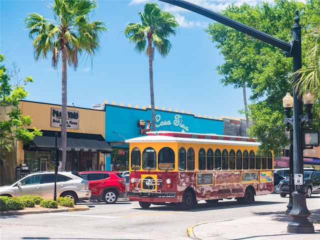
<path id="1" fill-rule="evenodd" d="M 25 28 L 33 40 L 34 58 L 47 58 L 52 53 L 52 66 L 57 67 L 61 52 L 62 99 L 61 99 L 61 148 L 62 163 L 59 168 L 64 170 L 66 157 L 66 62 L 78 66 L 78 55 L 82 53 L 95 55 L 99 49 L 99 37 L 107 31 L 102 21 L 89 22 L 97 4 L 94 0 L 54 0 L 50 8 L 54 20 L 44 18 L 38 13 L 29 13 L 25 18 Z"/>

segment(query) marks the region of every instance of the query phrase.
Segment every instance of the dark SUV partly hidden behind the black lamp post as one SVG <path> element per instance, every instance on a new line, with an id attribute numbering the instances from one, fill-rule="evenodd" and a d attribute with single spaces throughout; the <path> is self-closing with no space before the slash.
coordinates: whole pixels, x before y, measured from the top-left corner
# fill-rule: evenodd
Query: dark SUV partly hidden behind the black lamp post
<path id="1" fill-rule="evenodd" d="M 293 179 L 292 179 L 293 181 Z M 289 178 L 279 182 L 279 193 L 281 197 L 289 194 Z M 306 197 L 310 197 L 313 193 L 320 193 L 320 171 L 303 171 L 303 190 Z"/>

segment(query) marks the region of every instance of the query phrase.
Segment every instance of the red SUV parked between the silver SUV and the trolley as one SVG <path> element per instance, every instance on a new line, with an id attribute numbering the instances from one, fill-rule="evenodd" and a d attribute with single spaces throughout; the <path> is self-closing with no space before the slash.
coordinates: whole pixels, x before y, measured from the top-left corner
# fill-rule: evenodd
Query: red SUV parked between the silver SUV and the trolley
<path id="1" fill-rule="evenodd" d="M 125 197 L 125 179 L 118 171 L 80 171 L 88 179 L 92 200 L 114 203 L 119 197 Z"/>

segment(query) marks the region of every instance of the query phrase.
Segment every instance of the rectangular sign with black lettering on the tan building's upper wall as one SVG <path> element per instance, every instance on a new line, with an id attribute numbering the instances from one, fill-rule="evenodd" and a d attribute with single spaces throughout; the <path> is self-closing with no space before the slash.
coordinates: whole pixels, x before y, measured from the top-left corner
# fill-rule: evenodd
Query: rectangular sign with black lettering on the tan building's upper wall
<path id="1" fill-rule="evenodd" d="M 51 107 L 51 126 L 61 127 L 61 108 Z M 66 128 L 79 129 L 79 111 L 67 110 Z"/>

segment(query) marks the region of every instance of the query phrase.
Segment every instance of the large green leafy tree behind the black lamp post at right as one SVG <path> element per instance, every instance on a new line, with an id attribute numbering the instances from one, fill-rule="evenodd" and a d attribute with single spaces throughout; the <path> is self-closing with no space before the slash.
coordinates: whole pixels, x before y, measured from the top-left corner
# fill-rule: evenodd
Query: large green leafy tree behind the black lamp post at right
<path id="1" fill-rule="evenodd" d="M 306 14 L 309 7 L 308 3 L 275 0 L 274 4 L 261 2 L 255 6 L 232 4 L 220 14 L 290 41 L 295 9 Z M 300 21 L 302 35 L 314 24 L 311 19 L 314 18 L 306 16 Z M 288 144 L 284 133 L 282 97 L 290 88 L 287 76 L 292 72 L 292 58 L 284 57 L 285 52 L 275 46 L 221 23 L 209 24 L 205 30 L 225 60 L 217 67 L 218 73 L 224 76 L 220 82 L 235 88 L 245 84 L 253 92 L 250 96 L 252 103 L 248 109 L 242 110 L 252 121 L 249 135 L 262 142 L 260 150 L 273 150 L 278 154 Z"/>

